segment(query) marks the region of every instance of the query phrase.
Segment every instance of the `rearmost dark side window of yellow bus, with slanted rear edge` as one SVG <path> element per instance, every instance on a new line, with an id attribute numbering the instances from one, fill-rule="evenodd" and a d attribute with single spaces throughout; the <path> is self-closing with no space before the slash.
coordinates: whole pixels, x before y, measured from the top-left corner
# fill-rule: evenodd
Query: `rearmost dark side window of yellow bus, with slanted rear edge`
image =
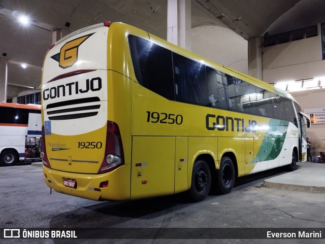
<path id="1" fill-rule="evenodd" d="M 128 36 L 132 63 L 140 85 L 175 100 L 172 52 L 152 42 Z"/>

